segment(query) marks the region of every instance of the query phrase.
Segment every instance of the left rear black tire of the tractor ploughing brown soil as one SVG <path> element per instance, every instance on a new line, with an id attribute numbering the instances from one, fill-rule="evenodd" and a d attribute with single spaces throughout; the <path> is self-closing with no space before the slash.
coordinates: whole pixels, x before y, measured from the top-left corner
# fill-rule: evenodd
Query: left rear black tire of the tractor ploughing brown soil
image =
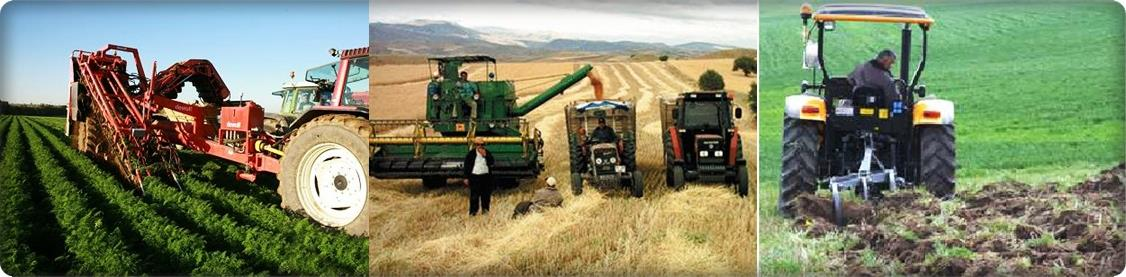
<path id="1" fill-rule="evenodd" d="M 812 122 L 786 118 L 783 127 L 781 191 L 778 212 L 793 216 L 794 198 L 817 190 L 817 150 L 821 134 Z"/>

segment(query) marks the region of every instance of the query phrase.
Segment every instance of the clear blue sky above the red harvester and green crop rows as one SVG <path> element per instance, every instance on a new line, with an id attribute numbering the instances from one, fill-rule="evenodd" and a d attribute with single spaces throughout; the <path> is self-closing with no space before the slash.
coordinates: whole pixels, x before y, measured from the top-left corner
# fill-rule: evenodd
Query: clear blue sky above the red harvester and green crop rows
<path id="1" fill-rule="evenodd" d="M 329 48 L 367 46 L 367 1 L 8 2 L 0 10 L 0 99 L 65 104 L 73 50 L 136 47 L 151 74 L 188 59 L 215 64 L 231 98 L 276 110 L 270 96 Z M 129 66 L 133 66 L 132 64 Z M 195 90 L 187 88 L 188 93 Z"/>

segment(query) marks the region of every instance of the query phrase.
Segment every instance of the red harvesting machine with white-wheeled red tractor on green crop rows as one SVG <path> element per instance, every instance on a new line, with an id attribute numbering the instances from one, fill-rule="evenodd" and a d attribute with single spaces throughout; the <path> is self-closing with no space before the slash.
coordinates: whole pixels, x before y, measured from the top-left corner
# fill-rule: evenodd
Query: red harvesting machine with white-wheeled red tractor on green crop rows
<path id="1" fill-rule="evenodd" d="M 284 208 L 366 235 L 368 50 L 332 54 L 340 60 L 306 73 L 306 81 L 320 84 L 319 104 L 268 134 L 262 107 L 230 100 L 207 60 L 160 72 L 153 63 L 154 73 L 145 75 L 136 48 L 74 51 L 66 134 L 74 148 L 110 164 L 137 191 L 149 176 L 176 180 L 182 172 L 179 149 L 198 151 L 242 164 L 240 179 L 275 173 Z M 193 104 L 176 100 L 187 82 L 198 93 Z"/>

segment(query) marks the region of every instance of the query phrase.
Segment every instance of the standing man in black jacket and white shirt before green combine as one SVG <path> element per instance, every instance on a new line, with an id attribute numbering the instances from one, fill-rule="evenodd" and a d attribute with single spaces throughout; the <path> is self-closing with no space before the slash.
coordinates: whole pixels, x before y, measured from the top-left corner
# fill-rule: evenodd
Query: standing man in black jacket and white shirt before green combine
<path id="1" fill-rule="evenodd" d="M 485 149 L 485 140 L 476 137 L 473 140 L 473 149 L 465 154 L 465 163 L 462 170 L 465 173 L 465 186 L 470 187 L 470 216 L 489 213 L 489 203 L 492 200 L 492 191 L 497 188 L 493 184 L 492 171 L 493 157 Z"/>

